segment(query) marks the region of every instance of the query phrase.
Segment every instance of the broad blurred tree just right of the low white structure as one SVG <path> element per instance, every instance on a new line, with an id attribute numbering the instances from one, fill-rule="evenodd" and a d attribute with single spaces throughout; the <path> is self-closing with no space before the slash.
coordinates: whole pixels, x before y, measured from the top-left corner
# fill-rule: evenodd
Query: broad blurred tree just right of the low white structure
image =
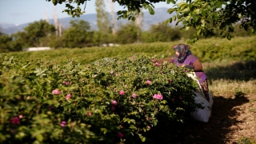
<path id="1" fill-rule="evenodd" d="M 84 20 L 71 20 L 70 28 L 64 30 L 62 40 L 64 47 L 85 47 L 92 45 L 90 24 Z"/>

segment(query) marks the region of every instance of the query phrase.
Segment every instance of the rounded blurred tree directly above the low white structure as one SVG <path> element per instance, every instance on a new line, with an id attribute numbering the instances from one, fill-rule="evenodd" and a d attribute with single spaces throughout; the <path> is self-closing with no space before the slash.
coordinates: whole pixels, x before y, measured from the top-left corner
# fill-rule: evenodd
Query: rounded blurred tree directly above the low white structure
<path id="1" fill-rule="evenodd" d="M 24 31 L 19 31 L 15 34 L 15 40 L 22 44 L 22 47 L 30 46 L 46 46 L 46 43 L 42 43 L 42 38 L 50 37 L 54 34 L 54 25 L 49 24 L 44 20 L 39 22 L 30 23 L 29 26 L 24 28 Z"/>

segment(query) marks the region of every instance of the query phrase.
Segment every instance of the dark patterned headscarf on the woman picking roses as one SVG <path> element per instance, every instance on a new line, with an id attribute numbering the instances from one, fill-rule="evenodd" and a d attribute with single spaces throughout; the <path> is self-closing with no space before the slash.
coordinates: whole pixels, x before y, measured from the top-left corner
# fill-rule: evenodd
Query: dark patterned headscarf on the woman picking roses
<path id="1" fill-rule="evenodd" d="M 190 46 L 184 45 L 182 43 L 174 46 L 174 50 L 177 51 L 179 54 L 179 56 L 178 56 L 179 63 L 183 63 L 185 61 L 186 57 L 188 55 L 192 54 L 190 52 Z"/>

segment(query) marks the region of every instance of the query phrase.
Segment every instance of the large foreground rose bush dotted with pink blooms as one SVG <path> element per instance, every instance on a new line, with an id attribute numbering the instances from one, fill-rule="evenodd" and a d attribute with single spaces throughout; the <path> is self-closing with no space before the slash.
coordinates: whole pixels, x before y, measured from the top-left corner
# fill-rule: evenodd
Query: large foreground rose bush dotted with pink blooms
<path id="1" fill-rule="evenodd" d="M 80 65 L 1 54 L 0 142 L 138 143 L 159 122 L 184 121 L 200 107 L 196 83 L 156 59 L 138 54 Z"/>

